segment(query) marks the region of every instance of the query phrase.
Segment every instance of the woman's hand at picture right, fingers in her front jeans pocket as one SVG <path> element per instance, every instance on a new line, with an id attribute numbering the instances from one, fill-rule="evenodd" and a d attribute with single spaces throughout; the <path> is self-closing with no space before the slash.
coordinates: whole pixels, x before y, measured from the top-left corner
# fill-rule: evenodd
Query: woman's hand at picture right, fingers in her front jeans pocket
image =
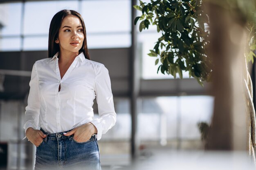
<path id="1" fill-rule="evenodd" d="M 86 142 L 92 137 L 94 133 L 97 133 L 97 128 L 91 122 L 88 122 L 74 128 L 72 131 L 69 131 L 64 135 L 70 136 L 74 134 L 74 140 L 76 142 Z"/>

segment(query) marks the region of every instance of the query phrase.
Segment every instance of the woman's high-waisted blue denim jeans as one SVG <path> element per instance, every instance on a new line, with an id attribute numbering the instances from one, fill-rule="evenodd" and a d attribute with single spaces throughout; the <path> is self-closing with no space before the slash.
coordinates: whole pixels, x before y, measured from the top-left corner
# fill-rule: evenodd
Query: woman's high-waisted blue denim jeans
<path id="1" fill-rule="evenodd" d="M 36 147 L 35 170 L 101 170 L 95 135 L 79 143 L 74 140 L 74 135 L 65 136 L 64 132 L 46 133 L 42 128 L 40 130 L 47 136 Z"/>

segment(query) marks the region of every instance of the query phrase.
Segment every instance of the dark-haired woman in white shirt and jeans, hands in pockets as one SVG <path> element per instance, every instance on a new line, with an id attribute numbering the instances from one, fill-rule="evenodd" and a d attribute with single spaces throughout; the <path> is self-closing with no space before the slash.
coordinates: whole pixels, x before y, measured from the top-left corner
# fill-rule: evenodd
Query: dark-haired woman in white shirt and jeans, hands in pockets
<path id="1" fill-rule="evenodd" d="M 48 57 L 33 65 L 25 111 L 35 170 L 99 170 L 97 140 L 115 125 L 116 113 L 108 69 L 90 60 L 85 24 L 76 11 L 52 18 Z M 99 118 L 93 119 L 95 97 Z"/>

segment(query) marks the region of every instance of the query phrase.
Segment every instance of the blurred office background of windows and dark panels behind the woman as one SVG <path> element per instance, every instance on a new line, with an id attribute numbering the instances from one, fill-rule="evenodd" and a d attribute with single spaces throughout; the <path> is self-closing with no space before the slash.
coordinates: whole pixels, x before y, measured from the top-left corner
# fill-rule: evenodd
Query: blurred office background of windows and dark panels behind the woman
<path id="1" fill-rule="evenodd" d="M 35 146 L 23 121 L 31 69 L 47 58 L 49 24 L 55 13 L 83 16 L 90 57 L 109 70 L 116 125 L 99 140 L 103 170 L 146 159 L 154 150 L 202 150 L 199 122 L 210 123 L 213 97 L 184 73 L 157 74 L 147 54 L 157 38 L 154 26 L 139 32 L 132 0 L 0 0 L 0 162 L 10 170 L 33 169 Z M 147 1 L 145 1 L 147 2 Z M 138 4 L 139 1 L 136 1 Z M 97 117 L 97 103 L 94 101 Z M 164 151 L 163 151 L 164 152 Z"/>

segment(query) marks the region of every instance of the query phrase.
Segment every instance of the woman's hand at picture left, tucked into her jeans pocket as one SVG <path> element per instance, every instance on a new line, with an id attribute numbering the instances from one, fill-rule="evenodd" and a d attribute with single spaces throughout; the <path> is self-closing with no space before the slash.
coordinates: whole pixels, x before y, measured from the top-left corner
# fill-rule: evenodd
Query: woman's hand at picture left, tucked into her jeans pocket
<path id="1" fill-rule="evenodd" d="M 39 146 L 43 142 L 43 138 L 46 137 L 46 135 L 42 131 L 35 130 L 32 127 L 29 127 L 27 129 L 26 136 L 27 139 L 29 139 L 29 141 L 36 147 Z"/>

